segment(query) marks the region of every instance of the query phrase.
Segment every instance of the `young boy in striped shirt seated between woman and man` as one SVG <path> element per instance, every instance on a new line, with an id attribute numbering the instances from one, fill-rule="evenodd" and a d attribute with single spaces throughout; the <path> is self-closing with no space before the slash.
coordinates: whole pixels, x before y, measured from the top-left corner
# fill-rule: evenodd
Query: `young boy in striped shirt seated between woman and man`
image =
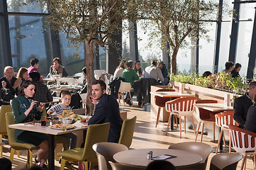
<path id="1" fill-rule="evenodd" d="M 56 112 L 58 115 L 58 118 L 62 116 L 62 113 L 64 110 L 68 111 L 70 110 L 70 101 L 71 101 L 71 93 L 70 91 L 62 91 L 61 93 L 61 103 L 58 103 L 58 105 L 53 106 L 53 108 L 50 108 L 50 110 L 47 112 L 48 115 L 50 115 L 53 112 Z M 76 143 L 78 141 L 78 137 L 70 132 L 70 133 L 65 133 L 60 136 L 65 136 L 65 137 L 70 137 L 71 138 L 71 143 L 68 141 L 68 144 L 70 143 L 70 149 L 74 149 L 76 146 Z M 69 145 L 68 145 L 69 146 Z"/>

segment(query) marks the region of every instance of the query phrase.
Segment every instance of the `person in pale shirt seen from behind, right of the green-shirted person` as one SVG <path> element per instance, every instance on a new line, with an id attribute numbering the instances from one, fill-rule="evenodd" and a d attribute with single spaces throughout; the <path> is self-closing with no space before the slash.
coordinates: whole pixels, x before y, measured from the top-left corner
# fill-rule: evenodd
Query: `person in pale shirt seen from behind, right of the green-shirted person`
<path id="1" fill-rule="evenodd" d="M 151 65 L 149 67 L 146 67 L 145 69 L 145 78 L 152 78 L 156 79 L 156 81 L 160 80 L 160 84 L 167 84 L 168 79 L 164 79 L 163 74 L 161 72 L 161 69 L 159 67 L 156 67 L 157 61 L 155 59 L 151 60 Z"/>

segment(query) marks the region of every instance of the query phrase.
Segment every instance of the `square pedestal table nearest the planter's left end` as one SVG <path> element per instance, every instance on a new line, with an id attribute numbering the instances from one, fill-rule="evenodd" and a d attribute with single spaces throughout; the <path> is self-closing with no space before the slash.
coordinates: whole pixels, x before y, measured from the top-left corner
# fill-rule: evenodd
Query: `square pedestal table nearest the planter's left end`
<path id="1" fill-rule="evenodd" d="M 194 94 L 182 94 L 179 91 L 151 91 L 150 94 L 153 94 L 154 96 L 159 96 L 161 98 L 181 98 L 181 97 L 192 97 L 195 96 Z M 164 108 L 165 109 L 165 108 Z M 164 132 L 166 130 L 163 130 Z M 169 131 L 176 131 L 174 130 L 174 115 L 171 115 L 171 125 Z"/>

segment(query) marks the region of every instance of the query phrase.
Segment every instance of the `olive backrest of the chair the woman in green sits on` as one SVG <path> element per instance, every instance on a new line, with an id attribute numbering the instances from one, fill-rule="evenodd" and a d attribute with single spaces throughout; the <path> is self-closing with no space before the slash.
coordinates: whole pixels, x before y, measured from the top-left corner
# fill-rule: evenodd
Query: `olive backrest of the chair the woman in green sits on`
<path id="1" fill-rule="evenodd" d="M 8 134 L 9 145 L 12 145 L 14 142 L 16 142 L 14 138 L 15 129 L 9 128 L 8 126 L 13 124 L 15 124 L 14 115 L 12 112 L 7 112 L 6 113 L 6 129 Z"/>

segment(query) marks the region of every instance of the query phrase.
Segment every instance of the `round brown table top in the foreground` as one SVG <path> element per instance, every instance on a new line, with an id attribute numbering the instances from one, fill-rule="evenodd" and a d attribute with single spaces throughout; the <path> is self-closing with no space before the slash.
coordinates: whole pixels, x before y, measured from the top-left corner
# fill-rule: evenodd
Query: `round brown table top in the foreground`
<path id="1" fill-rule="evenodd" d="M 203 159 L 199 154 L 178 149 L 133 149 L 114 154 L 114 160 L 119 164 L 146 167 L 150 162 L 152 162 L 152 160 L 146 159 L 146 154 L 149 151 L 153 152 L 153 157 L 162 154 L 171 154 L 176 156 L 175 158 L 166 159 L 166 161 L 174 164 L 175 167 L 195 165 L 201 162 Z"/>

